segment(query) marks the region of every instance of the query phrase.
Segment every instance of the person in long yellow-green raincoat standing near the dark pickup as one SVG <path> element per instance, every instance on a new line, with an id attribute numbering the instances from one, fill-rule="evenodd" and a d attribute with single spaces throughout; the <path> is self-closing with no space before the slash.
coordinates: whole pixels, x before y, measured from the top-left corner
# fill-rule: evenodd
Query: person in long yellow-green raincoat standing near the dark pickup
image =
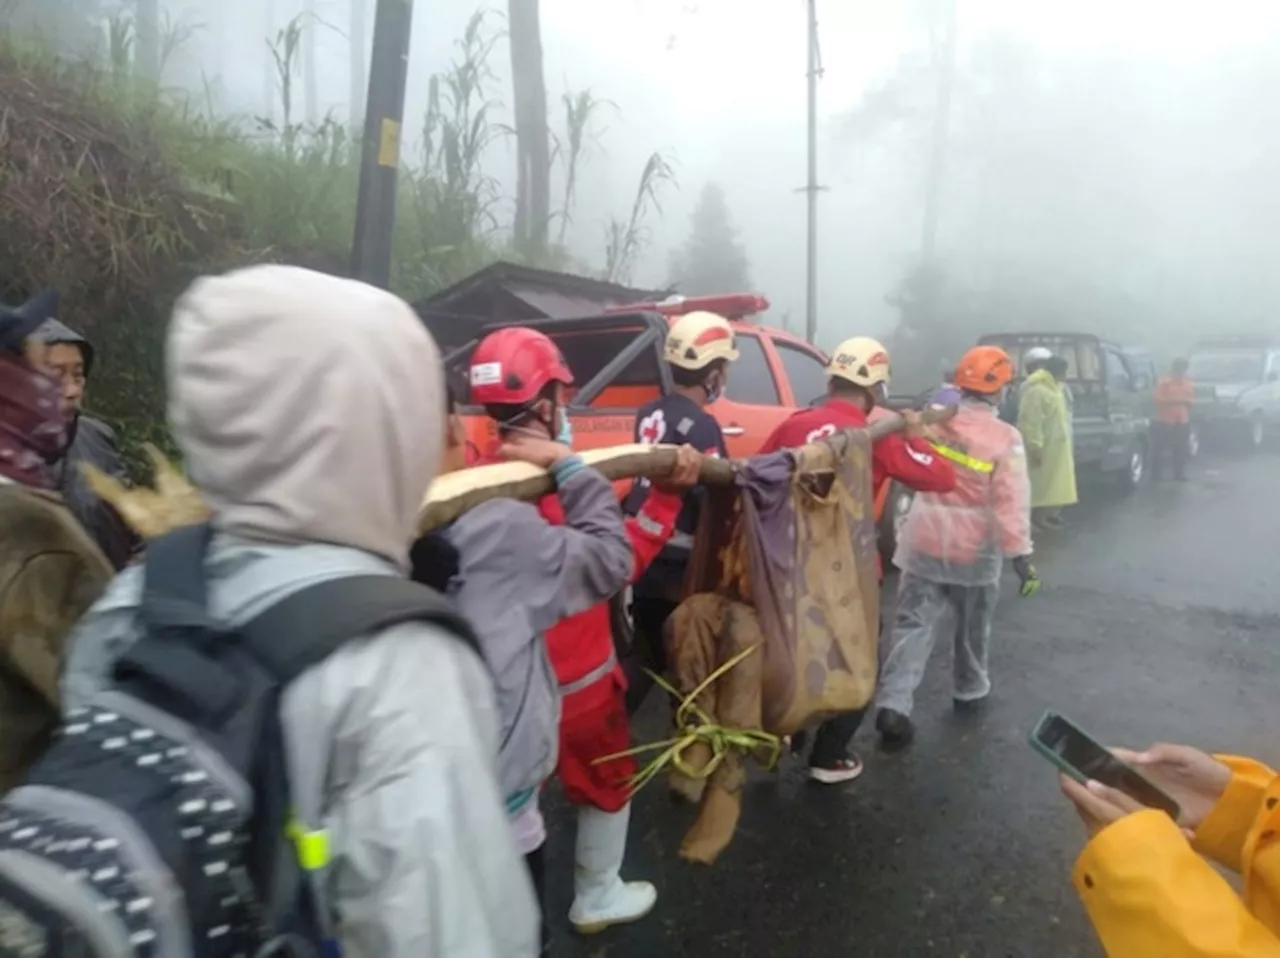
<path id="1" fill-rule="evenodd" d="M 1027 448 L 1032 483 L 1032 516 L 1039 529 L 1061 529 L 1062 507 L 1079 501 L 1071 414 L 1062 392 L 1066 369 L 1061 356 L 1039 361 L 1023 383 L 1018 401 L 1018 430 Z"/>

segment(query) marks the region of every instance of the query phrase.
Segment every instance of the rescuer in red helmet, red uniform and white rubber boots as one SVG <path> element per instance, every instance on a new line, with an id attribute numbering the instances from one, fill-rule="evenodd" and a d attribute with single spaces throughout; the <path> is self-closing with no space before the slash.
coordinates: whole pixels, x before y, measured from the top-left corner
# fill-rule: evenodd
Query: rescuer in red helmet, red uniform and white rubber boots
<path id="1" fill-rule="evenodd" d="M 572 442 L 562 391 L 572 384 L 573 377 L 549 338 L 532 329 L 500 329 L 476 346 L 471 369 L 471 398 L 485 406 L 500 435 L 518 442 L 548 442 L 554 425 L 558 443 L 567 447 Z M 539 402 L 556 394 L 559 398 L 552 411 L 536 411 Z M 521 438 L 526 435 L 531 439 Z M 671 537 L 684 491 L 698 482 L 700 465 L 700 455 L 691 447 L 681 447 L 676 474 L 655 485 L 640 515 L 627 520 L 630 578 L 648 566 Z M 548 528 L 570 524 L 561 497 L 544 497 L 538 511 Z M 470 560 L 462 552 L 466 569 Z M 621 587 L 612 592 L 618 590 Z M 479 598 L 490 601 L 485 596 Z M 557 771 L 566 797 L 577 807 L 570 921 L 582 934 L 636 921 L 653 909 L 658 897 L 652 884 L 620 877 L 631 817 L 630 783 L 637 771 L 635 758 L 599 761 L 631 747 L 626 678 L 614 653 L 608 603 L 599 601 L 607 598 L 596 596 L 596 602 L 585 611 L 575 602 L 563 612 L 568 617 L 545 631 L 547 653 L 562 697 Z"/>

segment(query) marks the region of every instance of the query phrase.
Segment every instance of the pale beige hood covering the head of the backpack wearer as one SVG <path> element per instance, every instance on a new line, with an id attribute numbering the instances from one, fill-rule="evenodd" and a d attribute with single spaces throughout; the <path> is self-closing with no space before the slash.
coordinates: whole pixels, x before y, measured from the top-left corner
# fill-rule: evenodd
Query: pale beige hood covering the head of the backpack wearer
<path id="1" fill-rule="evenodd" d="M 444 423 L 440 356 L 408 304 L 293 266 L 198 279 L 165 368 L 174 437 L 220 529 L 407 565 Z"/>

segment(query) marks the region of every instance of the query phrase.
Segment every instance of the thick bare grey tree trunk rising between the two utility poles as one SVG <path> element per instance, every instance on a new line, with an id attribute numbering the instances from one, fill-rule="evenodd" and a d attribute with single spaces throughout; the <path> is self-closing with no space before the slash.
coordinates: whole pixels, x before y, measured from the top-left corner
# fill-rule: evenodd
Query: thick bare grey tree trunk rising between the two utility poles
<path id="1" fill-rule="evenodd" d="M 508 0 L 511 81 L 516 114 L 516 223 L 518 246 L 547 248 L 552 211 L 552 151 L 539 0 Z"/>

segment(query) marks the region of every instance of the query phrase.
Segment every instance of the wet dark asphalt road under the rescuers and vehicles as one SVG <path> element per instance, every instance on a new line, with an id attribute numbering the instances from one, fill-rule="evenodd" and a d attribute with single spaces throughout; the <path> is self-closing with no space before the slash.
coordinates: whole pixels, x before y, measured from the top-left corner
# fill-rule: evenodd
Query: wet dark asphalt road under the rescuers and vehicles
<path id="1" fill-rule="evenodd" d="M 879 753 L 868 722 L 856 783 L 812 785 L 797 758 L 754 776 L 712 868 L 677 858 L 692 812 L 652 785 L 626 868 L 658 885 L 643 922 L 575 939 L 571 818 L 553 799 L 553 955 L 1101 955 L 1070 885 L 1083 830 L 1027 731 L 1052 707 L 1116 744 L 1280 761 L 1277 467 L 1202 460 L 1185 485 L 1130 499 L 1087 489 L 1071 528 L 1038 542 L 1042 593 L 1019 599 L 1005 583 L 986 711 L 952 713 L 940 647 L 909 752 Z M 649 708 L 637 738 L 660 731 Z"/>

